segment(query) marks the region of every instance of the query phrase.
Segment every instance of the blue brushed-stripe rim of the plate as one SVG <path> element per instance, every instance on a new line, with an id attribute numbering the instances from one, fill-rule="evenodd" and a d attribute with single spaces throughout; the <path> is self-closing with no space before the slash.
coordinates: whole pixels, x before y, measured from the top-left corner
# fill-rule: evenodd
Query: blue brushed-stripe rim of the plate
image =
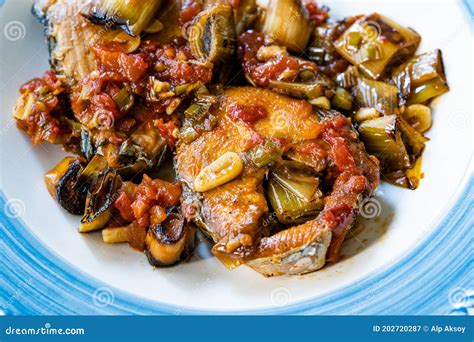
<path id="1" fill-rule="evenodd" d="M 470 170 L 447 214 L 408 254 L 314 299 L 250 311 L 178 307 L 113 288 L 64 261 L 19 218 L 9 217 L 8 202 L 0 191 L 2 310 L 7 315 L 467 314 L 474 300 L 469 238 L 474 226 L 474 177 Z M 96 300 L 101 289 L 109 296 L 105 301 Z"/>

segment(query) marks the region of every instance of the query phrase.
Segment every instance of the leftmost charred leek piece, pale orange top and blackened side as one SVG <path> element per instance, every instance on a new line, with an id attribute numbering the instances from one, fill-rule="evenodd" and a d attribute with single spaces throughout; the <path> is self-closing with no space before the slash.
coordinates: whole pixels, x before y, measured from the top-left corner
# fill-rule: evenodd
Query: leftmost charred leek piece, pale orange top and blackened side
<path id="1" fill-rule="evenodd" d="M 81 163 L 66 157 L 44 175 L 49 193 L 68 212 L 81 215 L 84 212 L 87 188 L 77 182 L 82 171 Z"/>

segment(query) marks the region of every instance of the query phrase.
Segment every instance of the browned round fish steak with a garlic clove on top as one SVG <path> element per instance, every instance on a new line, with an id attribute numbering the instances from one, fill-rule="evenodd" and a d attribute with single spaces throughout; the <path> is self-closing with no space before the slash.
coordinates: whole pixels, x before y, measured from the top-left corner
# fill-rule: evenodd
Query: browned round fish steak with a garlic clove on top
<path id="1" fill-rule="evenodd" d="M 258 104 L 254 113 L 260 108 L 266 115 L 252 124 L 248 115 L 236 119 L 236 108 L 251 104 Z M 191 143 L 180 143 L 176 167 L 186 187 L 183 212 L 216 242 L 213 253 L 229 268 L 247 263 L 266 276 L 307 273 L 335 261 L 359 202 L 379 179 L 378 162 L 367 155 L 350 121 L 336 115 L 320 123 L 307 102 L 248 87 L 225 90 L 211 112 L 217 126 Z M 272 216 L 262 186 L 269 169 L 245 159 L 256 140 L 268 139 L 285 139 L 292 146 L 324 140 L 331 174 L 337 175 L 316 219 L 271 236 Z M 197 175 L 226 152 L 244 156 L 243 172 L 212 190 L 193 191 Z"/>

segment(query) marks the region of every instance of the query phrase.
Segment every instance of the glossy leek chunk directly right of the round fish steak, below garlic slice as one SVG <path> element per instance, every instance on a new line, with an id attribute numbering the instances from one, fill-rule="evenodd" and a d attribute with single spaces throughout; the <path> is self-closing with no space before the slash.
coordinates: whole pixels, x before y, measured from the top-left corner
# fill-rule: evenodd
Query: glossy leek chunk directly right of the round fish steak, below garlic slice
<path id="1" fill-rule="evenodd" d="M 400 170 L 410 166 L 396 115 L 363 121 L 359 134 L 367 151 L 377 156 L 385 169 Z"/>

